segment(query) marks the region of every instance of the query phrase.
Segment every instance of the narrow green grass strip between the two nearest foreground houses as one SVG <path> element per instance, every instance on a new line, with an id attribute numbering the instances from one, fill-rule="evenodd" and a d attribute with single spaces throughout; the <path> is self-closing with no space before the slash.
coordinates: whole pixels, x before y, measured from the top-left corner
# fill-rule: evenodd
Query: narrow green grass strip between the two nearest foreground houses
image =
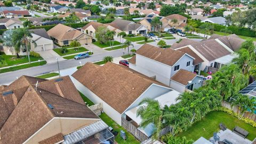
<path id="1" fill-rule="evenodd" d="M 108 126 L 111 126 L 114 131 L 118 132 L 118 135 L 115 137 L 115 141 L 119 144 L 123 144 L 123 143 L 129 143 L 129 144 L 139 144 L 140 142 L 135 139 L 133 137 L 132 134 L 130 134 L 129 132 L 127 132 L 122 126 L 118 125 L 115 121 L 113 121 L 113 119 L 111 119 L 106 113 L 102 113 L 100 115 L 100 118 L 102 119 L 102 121 L 104 121 Z M 123 140 L 120 136 L 120 131 L 123 130 L 126 134 L 126 140 Z"/>

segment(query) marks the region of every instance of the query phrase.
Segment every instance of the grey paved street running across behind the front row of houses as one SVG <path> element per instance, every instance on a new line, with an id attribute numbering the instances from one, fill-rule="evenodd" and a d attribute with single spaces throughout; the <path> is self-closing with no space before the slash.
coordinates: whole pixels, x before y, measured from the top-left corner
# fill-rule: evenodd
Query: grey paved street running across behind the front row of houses
<path id="1" fill-rule="evenodd" d="M 116 39 L 116 40 L 119 41 L 118 39 Z M 166 41 L 167 45 L 172 45 L 179 39 L 176 38 L 176 39 L 169 39 L 169 40 L 164 39 L 164 40 Z M 202 39 L 193 39 L 193 40 L 201 41 Z M 158 43 L 158 41 L 152 42 L 149 44 L 157 46 L 157 43 Z M 136 44 L 135 42 L 133 43 L 133 45 L 134 45 L 134 49 L 136 49 L 136 50 L 138 50 L 142 46 L 142 44 Z M 114 50 L 114 51 L 105 51 L 105 50 L 99 50 L 100 48 L 98 48 L 98 49 L 95 48 L 93 44 L 87 45 L 85 47 L 88 47 L 88 49 L 92 50 L 93 52 L 95 51 L 95 53 L 87 59 L 82 59 L 82 60 L 71 59 L 71 60 L 59 61 L 60 69 L 63 71 L 64 69 L 70 69 L 70 68 L 80 66 L 79 61 L 81 61 L 82 65 L 84 65 L 86 62 L 100 61 L 106 56 L 112 56 L 112 57 L 116 58 L 116 57 L 121 57 L 122 55 L 127 54 L 127 49 L 126 50 L 118 49 L 118 50 Z M 130 50 L 131 49 L 133 49 L 133 48 L 130 47 Z M 45 73 L 50 73 L 52 71 L 58 71 L 57 61 L 43 65 L 43 66 L 21 69 L 21 70 L 17 70 L 17 71 L 11 71 L 8 73 L 0 74 L 0 85 L 8 84 L 8 83 L 14 81 L 17 77 L 20 77 L 22 75 L 37 76 L 37 75 L 42 75 Z"/>

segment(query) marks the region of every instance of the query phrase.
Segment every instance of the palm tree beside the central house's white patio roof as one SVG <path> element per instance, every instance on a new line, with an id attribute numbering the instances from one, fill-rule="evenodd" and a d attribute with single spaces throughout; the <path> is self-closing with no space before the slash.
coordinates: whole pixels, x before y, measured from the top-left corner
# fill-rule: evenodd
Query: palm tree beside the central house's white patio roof
<path id="1" fill-rule="evenodd" d="M 139 105 L 142 105 L 137 110 L 137 117 L 140 116 L 142 119 L 140 126 L 145 128 L 149 124 L 153 123 L 155 126 L 155 129 L 153 131 L 153 138 L 158 139 L 160 136 L 159 134 L 163 129 L 164 119 L 170 119 L 170 117 L 172 117 L 173 114 L 165 114 L 159 102 L 154 99 L 142 99 Z"/>

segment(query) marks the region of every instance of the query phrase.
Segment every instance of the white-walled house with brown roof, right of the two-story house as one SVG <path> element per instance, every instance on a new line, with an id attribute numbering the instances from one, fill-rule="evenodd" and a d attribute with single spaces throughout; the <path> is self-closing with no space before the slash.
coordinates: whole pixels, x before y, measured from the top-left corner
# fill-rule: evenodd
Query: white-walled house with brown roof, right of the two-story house
<path id="1" fill-rule="evenodd" d="M 235 57 L 237 51 L 245 40 L 237 35 L 220 36 L 213 34 L 209 39 L 201 42 L 193 42 L 193 40 L 182 39 L 178 44 L 173 44 L 171 49 L 178 50 L 183 47 L 189 47 L 204 62 L 202 62 L 201 70 L 212 72 L 217 71 L 221 66 L 227 65 Z"/>

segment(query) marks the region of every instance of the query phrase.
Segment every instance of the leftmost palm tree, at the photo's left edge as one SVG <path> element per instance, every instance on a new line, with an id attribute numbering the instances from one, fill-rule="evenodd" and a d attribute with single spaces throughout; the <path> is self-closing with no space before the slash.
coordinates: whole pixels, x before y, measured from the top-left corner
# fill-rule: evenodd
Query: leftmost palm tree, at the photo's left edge
<path id="1" fill-rule="evenodd" d="M 17 55 L 17 58 L 20 58 L 20 55 L 19 55 L 20 47 L 14 46 L 15 43 L 12 41 L 13 31 L 14 31 L 14 29 L 9 29 L 3 33 L 3 38 L 2 38 L 3 45 L 10 47 L 10 50 L 15 52 L 15 54 Z"/>

